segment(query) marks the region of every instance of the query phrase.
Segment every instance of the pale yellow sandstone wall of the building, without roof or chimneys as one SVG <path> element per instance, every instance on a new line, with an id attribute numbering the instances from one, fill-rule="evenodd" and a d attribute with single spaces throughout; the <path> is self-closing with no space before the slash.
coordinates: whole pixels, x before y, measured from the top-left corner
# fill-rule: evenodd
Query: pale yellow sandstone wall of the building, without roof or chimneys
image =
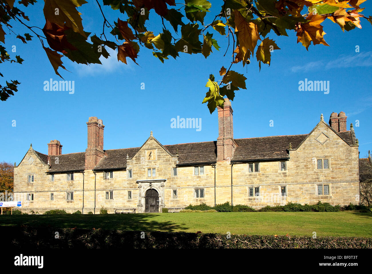
<path id="1" fill-rule="evenodd" d="M 156 160 L 146 159 L 147 150 L 156 152 Z M 261 208 L 287 202 L 315 204 L 322 201 L 332 205 L 359 202 L 358 147 L 350 147 L 324 123 L 320 123 L 297 150 L 289 151 L 289 155 L 286 171 L 280 171 L 279 161 L 261 162 L 258 173 L 249 173 L 248 163 L 233 164 L 232 203 Z M 32 164 L 28 162 L 29 157 L 34 159 Z M 319 158 L 329 159 L 329 169 L 317 169 Z M 51 182 L 50 175 L 46 174 L 48 166 L 29 149 L 15 168 L 15 200 L 23 201 L 26 212 L 42 213 L 50 209 L 82 211 L 84 179 L 84 214 L 89 211 L 97 214 L 101 207 L 107 208 L 109 213 L 113 213 L 114 208 L 136 208 L 137 212 L 144 212 L 144 196 L 150 188 L 159 193 L 160 212 L 163 207 L 183 208 L 202 202 L 213 206 L 215 196 L 217 204 L 231 203 L 229 160 L 218 161 L 215 168 L 204 166 L 205 174 L 202 175 L 194 175 L 194 167 L 189 166 L 178 167 L 177 176 L 173 176 L 176 164 L 176 155 L 170 155 L 150 137 L 140 151 L 127 160 L 127 170 L 132 170 L 132 178 L 128 178 L 126 170 L 113 170 L 112 179 L 104 179 L 102 171 L 85 170 L 84 174 L 74 173 L 73 181 L 67 181 L 66 174 L 55 174 L 54 182 Z M 147 176 L 149 168 L 156 169 L 156 176 Z M 28 182 L 28 174 L 34 174 L 34 182 Z M 152 180 L 151 186 L 147 180 Z M 329 185 L 330 194 L 318 195 L 319 184 Z M 287 196 L 280 195 L 281 186 L 286 186 Z M 260 195 L 249 197 L 249 187 L 259 187 Z M 204 189 L 204 198 L 195 198 L 196 188 Z M 173 198 L 174 189 L 177 190 L 176 198 Z M 112 200 L 106 199 L 106 191 L 110 190 L 113 191 Z M 74 192 L 73 201 L 66 200 L 69 191 Z M 128 199 L 128 191 L 132 192 L 131 199 Z M 26 201 L 26 193 L 34 193 L 34 201 Z M 54 193 L 54 201 L 50 200 L 50 193 Z"/>

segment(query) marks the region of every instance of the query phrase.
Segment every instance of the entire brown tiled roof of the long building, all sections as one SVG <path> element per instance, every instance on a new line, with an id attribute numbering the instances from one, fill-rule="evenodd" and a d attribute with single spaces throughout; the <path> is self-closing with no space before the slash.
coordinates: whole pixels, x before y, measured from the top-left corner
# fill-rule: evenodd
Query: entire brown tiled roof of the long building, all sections
<path id="1" fill-rule="evenodd" d="M 350 145 L 353 144 L 350 131 L 339 133 L 339 135 Z M 235 149 L 232 161 L 286 159 L 289 158 L 287 151 L 289 143 L 292 144 L 292 149 L 296 149 L 307 136 L 308 134 L 235 139 L 238 146 Z M 216 141 L 164 145 L 163 147 L 173 155 L 177 154 L 178 149 L 178 165 L 180 166 L 211 164 L 217 161 Z M 139 147 L 105 150 L 105 157 L 94 167 L 94 170 L 125 170 L 126 155 L 128 154 L 129 158 L 132 158 L 139 150 Z M 47 164 L 48 156 L 39 152 L 36 153 Z M 59 164 L 55 164 L 55 157 L 51 156 L 51 168 L 48 171 L 50 173 L 77 171 L 85 168 L 85 152 L 58 155 Z"/>

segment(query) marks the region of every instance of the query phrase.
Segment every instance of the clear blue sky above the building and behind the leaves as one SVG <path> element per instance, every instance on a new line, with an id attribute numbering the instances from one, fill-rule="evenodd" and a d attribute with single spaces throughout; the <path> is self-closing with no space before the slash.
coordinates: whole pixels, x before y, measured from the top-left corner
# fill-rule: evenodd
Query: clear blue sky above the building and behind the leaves
<path id="1" fill-rule="evenodd" d="M 221 9 L 221 1 L 211 1 L 211 12 L 205 22 L 210 22 Z M 369 2 L 369 3 L 368 3 Z M 43 27 L 42 8 L 44 2 L 24 10 L 34 25 Z M 364 14 L 372 15 L 372 4 L 367 1 Z M 85 31 L 102 32 L 102 16 L 95 1 L 80 7 Z M 120 17 L 118 12 L 104 6 L 103 11 L 112 22 Z M 213 16 L 213 17 L 212 17 Z M 151 16 L 150 16 L 151 18 Z M 247 90 L 235 93 L 234 138 L 249 138 L 273 135 L 309 133 L 319 122 L 320 114 L 328 122 L 330 114 L 344 111 L 347 129 L 359 120 L 355 127 L 359 139 L 360 158 L 372 149 L 371 138 L 371 74 L 372 48 L 371 24 L 361 19 L 362 29 L 342 32 L 341 28 L 326 19 L 322 23 L 327 33 L 324 38 L 330 45 L 296 43 L 295 32 L 289 37 L 268 35 L 281 48 L 272 54 L 270 67 L 262 64 L 259 72 L 256 57 L 251 64 L 242 67 L 235 64 L 232 69 L 247 77 Z M 31 23 L 30 23 L 31 24 Z M 148 25 L 148 30 L 158 33 L 158 22 Z M 13 31 L 29 32 L 15 24 Z M 211 31 L 210 31 L 211 32 Z M 87 147 L 86 122 L 97 116 L 105 125 L 105 149 L 139 147 L 154 132 L 162 144 L 202 142 L 216 140 L 218 136 L 217 111 L 209 113 L 202 104 L 208 76 L 217 79 L 221 66 L 230 65 L 230 54 L 223 57 L 227 39 L 213 31 L 221 46 L 220 51 L 205 59 L 201 54 L 180 54 L 177 60 L 165 60 L 162 64 L 153 57 L 152 51 L 141 48 L 137 64 L 129 58 L 128 65 L 119 63 L 115 53 L 103 65 L 86 66 L 72 63 L 62 57 L 66 69 L 59 72 L 68 81 L 75 82 L 74 94 L 68 91 L 44 91 L 44 81 L 50 78 L 59 81 L 42 49 L 39 40 L 33 38 L 22 44 L 14 35 L 6 35 L 6 46 L 10 50 L 16 45 L 17 55 L 25 61 L 20 64 L 2 64 L 5 79 L 17 79 L 22 84 L 16 95 L 0 101 L 1 129 L 0 161 L 19 164 L 32 143 L 36 151 L 47 153 L 47 143 L 57 139 L 63 145 L 62 153 L 85 151 Z M 356 45 L 360 52 L 355 52 Z M 229 52 L 230 49 L 229 49 Z M 312 81 L 330 81 L 330 92 L 299 91 L 298 82 L 305 78 Z M 141 83 L 145 89 L 141 89 Z M 201 130 L 171 128 L 170 120 L 201 118 Z M 16 126 L 12 121 L 16 120 Z M 270 127 L 270 120 L 274 126 Z"/>

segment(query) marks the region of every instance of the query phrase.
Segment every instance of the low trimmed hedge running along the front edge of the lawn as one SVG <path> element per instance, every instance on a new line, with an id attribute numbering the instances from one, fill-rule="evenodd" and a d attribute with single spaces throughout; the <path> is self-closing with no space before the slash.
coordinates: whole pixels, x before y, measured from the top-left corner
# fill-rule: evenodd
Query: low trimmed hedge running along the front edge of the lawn
<path id="1" fill-rule="evenodd" d="M 60 238 L 55 239 L 55 232 Z M 0 227 L 5 246 L 13 248 L 372 248 L 372 238 L 261 236 L 186 232 L 145 232 L 51 227 Z"/>

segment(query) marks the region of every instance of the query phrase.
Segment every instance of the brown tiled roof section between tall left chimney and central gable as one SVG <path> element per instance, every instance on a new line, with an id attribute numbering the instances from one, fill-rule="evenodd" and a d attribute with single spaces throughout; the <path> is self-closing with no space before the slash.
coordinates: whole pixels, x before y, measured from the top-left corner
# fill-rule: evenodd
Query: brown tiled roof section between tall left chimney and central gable
<path id="1" fill-rule="evenodd" d="M 132 158 L 140 148 L 122 148 L 105 150 L 106 156 L 94 167 L 94 170 L 126 169 L 126 155 Z"/>

